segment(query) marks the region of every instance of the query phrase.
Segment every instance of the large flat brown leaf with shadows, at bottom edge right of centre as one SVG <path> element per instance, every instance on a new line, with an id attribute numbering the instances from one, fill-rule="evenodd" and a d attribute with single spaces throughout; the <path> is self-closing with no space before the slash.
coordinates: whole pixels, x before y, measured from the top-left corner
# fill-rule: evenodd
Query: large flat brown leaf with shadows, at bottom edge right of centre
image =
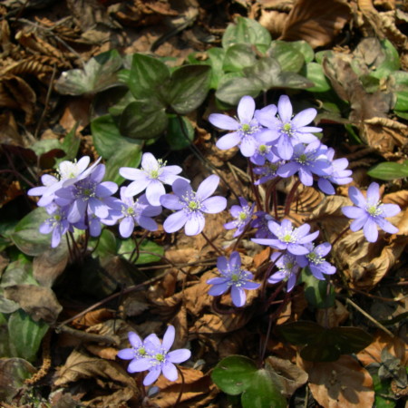
<path id="1" fill-rule="evenodd" d="M 297 365 L 309 374 L 309 388 L 324 408 L 373 406 L 373 379 L 352 356 L 331 363 L 311 363 L 297 357 Z"/>

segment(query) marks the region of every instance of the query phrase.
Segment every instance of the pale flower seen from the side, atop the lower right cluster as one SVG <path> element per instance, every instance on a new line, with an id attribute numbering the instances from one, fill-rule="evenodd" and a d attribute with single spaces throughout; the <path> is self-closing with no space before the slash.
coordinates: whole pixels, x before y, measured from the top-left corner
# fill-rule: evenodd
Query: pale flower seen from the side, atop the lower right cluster
<path id="1" fill-rule="evenodd" d="M 283 219 L 280 225 L 275 221 L 269 221 L 267 227 L 277 238 L 252 238 L 252 240 L 257 244 L 268 245 L 279 250 L 287 249 L 293 255 L 306 255 L 309 249 L 305 244 L 313 241 L 319 234 L 319 231 L 309 234 L 309 224 L 293 228 L 292 222 L 288 219 Z"/>

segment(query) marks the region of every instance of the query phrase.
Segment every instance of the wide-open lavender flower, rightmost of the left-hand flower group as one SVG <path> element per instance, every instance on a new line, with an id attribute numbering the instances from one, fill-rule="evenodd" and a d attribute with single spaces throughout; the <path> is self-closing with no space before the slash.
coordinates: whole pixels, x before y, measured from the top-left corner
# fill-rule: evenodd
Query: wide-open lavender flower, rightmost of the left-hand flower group
<path id="1" fill-rule="evenodd" d="M 227 207 L 227 199 L 220 196 L 210 197 L 219 185 L 219 176 L 213 174 L 203 180 L 197 192 L 191 189 L 186 180 L 175 180 L 174 194 L 160 197 L 160 203 L 166 209 L 175 209 L 163 224 L 166 232 L 175 232 L 184 227 L 186 235 L 198 235 L 204 228 L 204 214 L 217 214 Z"/>

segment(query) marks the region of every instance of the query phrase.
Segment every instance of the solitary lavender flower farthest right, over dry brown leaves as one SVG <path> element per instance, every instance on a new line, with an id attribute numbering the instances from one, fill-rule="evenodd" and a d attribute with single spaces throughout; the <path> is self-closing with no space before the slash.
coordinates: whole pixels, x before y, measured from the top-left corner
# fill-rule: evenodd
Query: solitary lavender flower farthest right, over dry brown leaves
<path id="1" fill-rule="evenodd" d="M 375 242 L 378 238 L 377 226 L 384 229 L 385 232 L 395 234 L 398 228 L 385 218 L 393 217 L 401 209 L 396 204 L 383 204 L 380 201 L 380 186 L 377 183 L 371 183 L 367 189 L 367 198 L 355 187 L 348 189 L 348 196 L 356 205 L 343 207 L 342 211 L 345 217 L 355 219 L 350 229 L 358 231 L 363 228 L 364 236 L 368 242 Z"/>

